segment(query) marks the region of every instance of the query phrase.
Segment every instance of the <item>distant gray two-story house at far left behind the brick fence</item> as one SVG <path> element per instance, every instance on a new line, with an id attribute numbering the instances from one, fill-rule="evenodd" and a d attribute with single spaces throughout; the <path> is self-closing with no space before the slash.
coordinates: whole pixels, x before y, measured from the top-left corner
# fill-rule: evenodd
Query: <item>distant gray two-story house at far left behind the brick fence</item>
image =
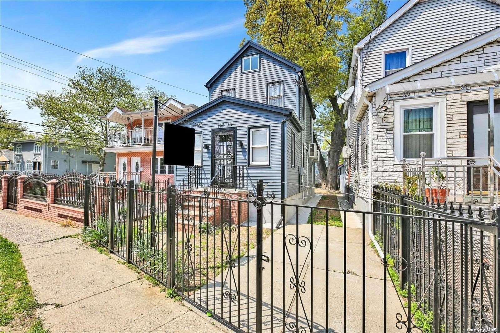
<path id="1" fill-rule="evenodd" d="M 29 139 L 10 142 L 13 147 L 14 170 L 41 171 L 62 175 L 66 172 L 90 174 L 99 171 L 99 157 L 87 153 L 84 147 L 67 149 L 64 142 L 42 142 Z M 106 153 L 104 170 L 114 171 L 115 154 Z"/>

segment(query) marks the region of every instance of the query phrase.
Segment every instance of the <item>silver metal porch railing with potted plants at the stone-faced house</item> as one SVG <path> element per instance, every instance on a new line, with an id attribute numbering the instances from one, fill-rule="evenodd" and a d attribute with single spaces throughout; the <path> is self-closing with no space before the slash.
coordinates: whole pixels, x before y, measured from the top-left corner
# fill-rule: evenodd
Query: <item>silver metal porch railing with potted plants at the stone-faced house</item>
<path id="1" fill-rule="evenodd" d="M 403 159 L 403 190 L 430 203 L 445 201 L 471 205 L 497 205 L 500 163 L 484 157 L 426 157 Z"/>

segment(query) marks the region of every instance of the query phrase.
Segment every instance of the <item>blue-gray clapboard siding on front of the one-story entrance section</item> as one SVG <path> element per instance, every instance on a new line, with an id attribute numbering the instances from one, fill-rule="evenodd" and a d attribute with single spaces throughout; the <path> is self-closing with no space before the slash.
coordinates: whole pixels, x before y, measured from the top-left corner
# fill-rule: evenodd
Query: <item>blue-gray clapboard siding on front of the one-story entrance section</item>
<path id="1" fill-rule="evenodd" d="M 212 109 L 206 110 L 193 116 L 190 120 L 202 125 L 195 127 L 196 132 L 202 132 L 202 143 L 208 144 L 209 149 L 202 150 L 202 167 L 205 179 L 210 179 L 211 153 L 212 153 L 212 129 L 223 129 L 217 126 L 219 123 L 230 122 L 230 127 L 236 128 L 236 164 L 247 165 L 248 157 L 248 127 L 267 126 L 270 130 L 270 166 L 248 166 L 248 173 L 253 184 L 262 179 L 264 183 L 272 182 L 265 187 L 266 191 L 273 191 L 276 197 L 281 196 L 281 121 L 283 115 L 263 109 L 252 108 L 231 102 L 222 102 Z M 182 124 L 186 125 L 186 124 Z M 191 127 L 191 125 L 186 125 Z M 243 148 L 239 147 L 238 141 L 243 142 Z M 187 173 L 188 168 L 177 166 L 175 169 L 175 181 L 178 184 Z"/>

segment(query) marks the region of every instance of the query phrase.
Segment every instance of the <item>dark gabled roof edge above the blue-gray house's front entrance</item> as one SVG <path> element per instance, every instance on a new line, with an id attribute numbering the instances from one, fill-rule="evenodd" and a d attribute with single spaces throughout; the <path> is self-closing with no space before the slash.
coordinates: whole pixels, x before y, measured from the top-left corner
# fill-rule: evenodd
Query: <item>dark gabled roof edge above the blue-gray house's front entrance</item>
<path id="1" fill-rule="evenodd" d="M 198 107 L 194 111 L 191 111 L 191 112 L 187 113 L 186 115 L 172 121 L 172 123 L 178 124 L 180 122 L 183 122 L 184 120 L 187 120 L 187 119 L 191 118 L 192 116 L 195 116 L 196 114 L 199 114 L 203 111 L 206 111 L 206 110 L 210 109 L 211 107 L 213 107 L 217 104 L 220 104 L 222 102 L 225 102 L 225 101 L 235 103 L 235 104 L 260 108 L 260 109 L 263 109 L 266 111 L 273 111 L 273 112 L 281 113 L 283 115 L 291 115 L 291 120 L 292 120 L 293 124 L 295 125 L 295 127 L 297 127 L 298 130 L 304 129 L 303 126 L 300 124 L 300 121 L 298 120 L 297 115 L 290 108 L 264 104 L 264 103 L 255 102 L 255 101 L 248 100 L 248 99 L 231 97 L 231 96 L 226 96 L 226 95 L 222 95 L 220 97 L 215 98 L 212 101 L 209 101 L 206 104 L 201 105 L 200 107 Z"/>

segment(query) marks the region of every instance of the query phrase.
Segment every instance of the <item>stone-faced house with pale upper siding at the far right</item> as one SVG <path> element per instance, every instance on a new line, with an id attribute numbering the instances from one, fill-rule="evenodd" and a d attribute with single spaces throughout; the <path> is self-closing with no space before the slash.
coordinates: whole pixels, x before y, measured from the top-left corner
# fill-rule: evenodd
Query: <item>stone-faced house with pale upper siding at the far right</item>
<path id="1" fill-rule="evenodd" d="M 470 155 L 473 128 L 483 142 L 467 108 L 483 112 L 498 81 L 499 21 L 498 1 L 408 1 L 354 46 L 344 165 L 356 208 L 372 185 L 402 182 L 403 157 Z"/>

